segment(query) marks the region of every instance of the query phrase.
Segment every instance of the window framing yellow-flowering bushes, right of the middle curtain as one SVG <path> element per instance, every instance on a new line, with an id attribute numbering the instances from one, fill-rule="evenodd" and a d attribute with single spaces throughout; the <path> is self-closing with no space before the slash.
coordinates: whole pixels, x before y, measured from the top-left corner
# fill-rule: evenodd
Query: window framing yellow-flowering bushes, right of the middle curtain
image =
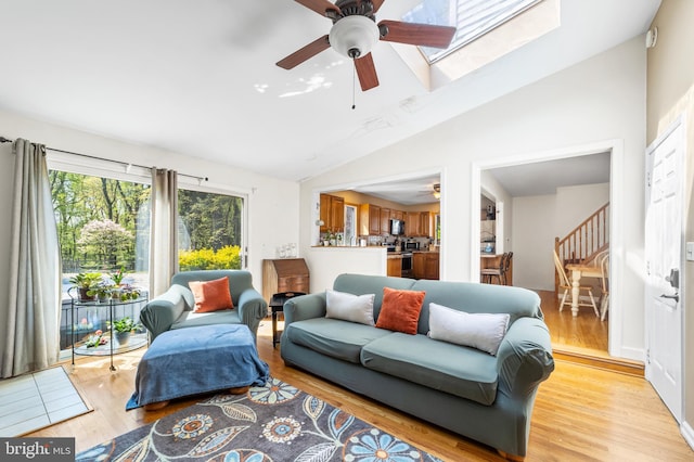
<path id="1" fill-rule="evenodd" d="M 246 266 L 243 197 L 179 189 L 178 214 L 181 271 Z"/>

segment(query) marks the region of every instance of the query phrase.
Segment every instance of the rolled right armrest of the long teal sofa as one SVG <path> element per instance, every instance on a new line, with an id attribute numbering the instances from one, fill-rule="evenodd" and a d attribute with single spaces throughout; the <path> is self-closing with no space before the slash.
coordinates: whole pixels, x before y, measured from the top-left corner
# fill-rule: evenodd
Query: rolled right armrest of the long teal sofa
<path id="1" fill-rule="evenodd" d="M 528 397 L 554 371 L 547 324 L 538 318 L 519 318 L 511 324 L 497 352 L 500 392 Z"/>

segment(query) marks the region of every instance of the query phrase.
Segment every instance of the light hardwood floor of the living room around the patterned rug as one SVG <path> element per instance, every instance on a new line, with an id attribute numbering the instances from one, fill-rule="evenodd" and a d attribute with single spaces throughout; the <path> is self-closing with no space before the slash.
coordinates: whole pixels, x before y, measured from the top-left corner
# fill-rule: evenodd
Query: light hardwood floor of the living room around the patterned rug
<path id="1" fill-rule="evenodd" d="M 492 448 L 285 367 L 280 347 L 272 348 L 270 325 L 268 319 L 259 330 L 258 350 L 273 376 L 446 461 L 502 460 Z M 117 356 L 118 370 L 113 373 L 107 358 L 80 357 L 72 376 L 94 411 L 31 436 L 75 436 L 80 451 L 196 401 L 177 401 L 155 412 L 126 412 L 143 352 L 142 348 Z M 65 367 L 70 369 L 69 363 Z M 556 360 L 554 373 L 542 383 L 536 399 L 526 461 L 587 460 L 691 461 L 694 451 L 645 380 Z"/>

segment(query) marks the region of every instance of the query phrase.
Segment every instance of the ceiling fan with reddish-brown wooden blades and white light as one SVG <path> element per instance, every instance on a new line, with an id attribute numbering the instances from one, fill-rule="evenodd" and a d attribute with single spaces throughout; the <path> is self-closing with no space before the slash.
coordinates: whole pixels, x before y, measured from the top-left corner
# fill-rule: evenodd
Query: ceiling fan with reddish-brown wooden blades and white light
<path id="1" fill-rule="evenodd" d="M 420 47 L 447 48 L 455 27 L 429 24 L 402 23 L 384 20 L 376 24 L 375 13 L 385 0 L 296 0 L 304 7 L 333 22 L 330 34 L 284 57 L 278 66 L 291 69 L 313 57 L 321 51 L 333 48 L 339 54 L 355 61 L 362 91 L 378 86 L 378 76 L 371 50 L 378 40 Z"/>

